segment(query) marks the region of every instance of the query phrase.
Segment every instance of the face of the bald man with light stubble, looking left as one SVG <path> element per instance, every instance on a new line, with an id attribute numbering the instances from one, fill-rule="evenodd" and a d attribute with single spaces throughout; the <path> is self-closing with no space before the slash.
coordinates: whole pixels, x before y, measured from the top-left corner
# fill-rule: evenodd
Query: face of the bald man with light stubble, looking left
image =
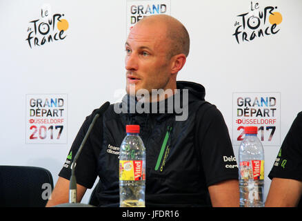
<path id="1" fill-rule="evenodd" d="M 161 24 L 139 24 L 132 28 L 125 43 L 126 90 L 166 90 L 170 87 L 168 39 Z"/>

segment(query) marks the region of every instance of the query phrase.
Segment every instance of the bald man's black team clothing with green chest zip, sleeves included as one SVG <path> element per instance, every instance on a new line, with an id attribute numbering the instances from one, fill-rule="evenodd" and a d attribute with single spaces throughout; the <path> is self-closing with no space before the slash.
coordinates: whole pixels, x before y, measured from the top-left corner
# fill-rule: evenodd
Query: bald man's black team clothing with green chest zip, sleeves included
<path id="1" fill-rule="evenodd" d="M 177 88 L 180 97 L 183 89 L 188 91 L 188 104 L 181 104 L 183 110 L 188 105 L 185 120 L 176 120 L 180 115 L 176 108 L 165 113 L 116 113 L 114 104 L 99 117 L 75 173 L 77 183 L 87 188 L 92 188 L 99 176 L 95 193 L 98 206 L 119 206 L 119 146 L 126 124 L 141 128 L 146 152 L 146 206 L 210 206 L 208 186 L 238 179 L 232 143 L 220 111 L 205 102 L 205 89 L 200 84 L 178 81 Z M 162 101 L 165 110 L 167 100 Z M 70 178 L 70 165 L 93 116 L 94 112 L 86 117 L 59 176 Z M 163 144 L 165 137 L 168 142 Z"/>

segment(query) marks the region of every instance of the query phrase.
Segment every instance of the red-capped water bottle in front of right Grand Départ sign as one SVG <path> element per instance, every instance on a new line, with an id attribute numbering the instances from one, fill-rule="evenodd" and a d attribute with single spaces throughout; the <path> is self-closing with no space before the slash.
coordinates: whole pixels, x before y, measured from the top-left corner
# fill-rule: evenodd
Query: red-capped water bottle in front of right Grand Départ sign
<path id="1" fill-rule="evenodd" d="M 241 207 L 263 207 L 264 151 L 256 126 L 244 128 L 239 147 L 239 189 Z"/>

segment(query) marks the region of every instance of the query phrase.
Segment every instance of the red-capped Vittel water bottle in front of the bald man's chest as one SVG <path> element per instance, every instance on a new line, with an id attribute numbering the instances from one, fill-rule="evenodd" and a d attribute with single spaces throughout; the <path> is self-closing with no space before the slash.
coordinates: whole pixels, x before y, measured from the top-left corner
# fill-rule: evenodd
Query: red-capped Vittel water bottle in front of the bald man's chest
<path id="1" fill-rule="evenodd" d="M 139 125 L 126 125 L 127 135 L 119 153 L 119 198 L 121 207 L 145 206 L 145 146 Z"/>

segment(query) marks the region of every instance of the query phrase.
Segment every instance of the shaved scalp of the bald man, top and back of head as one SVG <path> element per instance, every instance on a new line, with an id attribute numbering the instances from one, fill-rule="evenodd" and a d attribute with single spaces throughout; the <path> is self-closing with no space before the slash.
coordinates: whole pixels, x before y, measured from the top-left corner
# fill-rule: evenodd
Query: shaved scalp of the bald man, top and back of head
<path id="1" fill-rule="evenodd" d="M 190 37 L 183 24 L 169 15 L 151 15 L 141 19 L 136 26 L 158 25 L 165 28 L 165 37 L 168 39 L 170 49 L 168 58 L 184 54 L 188 57 L 190 51 Z"/>

